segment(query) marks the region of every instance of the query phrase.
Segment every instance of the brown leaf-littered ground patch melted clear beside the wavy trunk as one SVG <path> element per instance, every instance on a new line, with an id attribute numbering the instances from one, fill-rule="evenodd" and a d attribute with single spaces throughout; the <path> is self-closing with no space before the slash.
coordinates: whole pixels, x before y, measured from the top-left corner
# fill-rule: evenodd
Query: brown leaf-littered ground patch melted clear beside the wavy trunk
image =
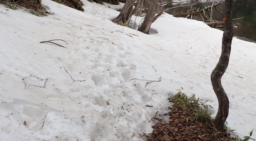
<path id="1" fill-rule="evenodd" d="M 179 94 L 179 93 L 178 93 Z M 183 93 L 181 93 L 183 94 Z M 176 97 L 177 98 L 177 97 Z M 170 116 L 169 123 L 162 119 L 153 126 L 154 130 L 147 136 L 147 141 L 231 141 L 226 133 L 218 132 L 213 124 L 213 119 L 206 113 L 204 103 L 192 99 L 184 102 L 180 97 L 174 100 L 171 112 L 164 116 Z M 199 112 L 199 113 L 198 113 Z"/>

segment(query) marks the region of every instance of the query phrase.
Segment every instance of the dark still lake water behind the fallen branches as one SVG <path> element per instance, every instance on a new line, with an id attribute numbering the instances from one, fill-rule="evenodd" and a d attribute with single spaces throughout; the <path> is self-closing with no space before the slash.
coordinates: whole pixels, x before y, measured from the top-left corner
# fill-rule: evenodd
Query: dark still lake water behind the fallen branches
<path id="1" fill-rule="evenodd" d="M 224 1 L 219 1 L 222 3 L 220 7 L 217 7 L 221 11 L 224 11 Z M 208 2 L 199 2 L 194 7 L 203 8 L 205 5 L 212 5 L 213 1 Z M 191 9 L 190 7 L 179 7 L 171 11 L 171 14 L 186 13 L 187 10 Z M 216 20 L 221 21 L 223 18 L 223 13 L 220 13 L 216 10 L 214 12 L 214 17 Z M 233 19 L 244 17 L 242 19 L 234 20 L 233 23 L 237 25 L 237 28 L 234 29 L 234 36 L 243 38 L 244 40 L 253 42 L 256 41 L 256 0 L 235 0 L 234 1 L 234 10 L 233 10 Z M 247 38 L 247 39 L 246 39 Z"/>

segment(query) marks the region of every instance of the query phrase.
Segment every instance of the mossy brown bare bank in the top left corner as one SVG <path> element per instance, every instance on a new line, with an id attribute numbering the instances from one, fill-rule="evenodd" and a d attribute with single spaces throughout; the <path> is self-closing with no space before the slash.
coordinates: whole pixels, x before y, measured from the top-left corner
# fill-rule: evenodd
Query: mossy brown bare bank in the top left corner
<path id="1" fill-rule="evenodd" d="M 38 0 L 0 0 L 0 4 L 14 10 L 24 7 L 36 16 L 47 16 L 49 14 L 46 9 L 40 5 Z"/>

